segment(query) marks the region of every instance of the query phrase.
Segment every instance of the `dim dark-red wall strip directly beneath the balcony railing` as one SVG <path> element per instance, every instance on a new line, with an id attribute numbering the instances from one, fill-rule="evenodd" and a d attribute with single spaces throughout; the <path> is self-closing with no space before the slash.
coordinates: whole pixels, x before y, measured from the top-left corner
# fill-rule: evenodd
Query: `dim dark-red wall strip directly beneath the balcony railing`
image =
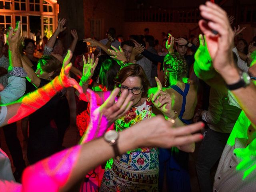
<path id="1" fill-rule="evenodd" d="M 144 34 L 144 28 L 150 29 L 150 35 L 153 35 L 155 39 L 161 40 L 161 32 L 167 32 L 172 30 L 172 35 L 174 37 L 187 36 L 188 31 L 196 28 L 197 23 L 158 23 L 158 22 L 124 22 L 123 26 L 123 36 L 128 39 L 131 34 Z M 256 36 L 256 26 L 252 27 L 249 24 L 240 25 L 240 28 L 246 27 L 242 32 L 243 38 L 250 42 L 254 36 Z M 191 34 L 198 36 L 200 34 L 200 29 L 196 28 Z"/>

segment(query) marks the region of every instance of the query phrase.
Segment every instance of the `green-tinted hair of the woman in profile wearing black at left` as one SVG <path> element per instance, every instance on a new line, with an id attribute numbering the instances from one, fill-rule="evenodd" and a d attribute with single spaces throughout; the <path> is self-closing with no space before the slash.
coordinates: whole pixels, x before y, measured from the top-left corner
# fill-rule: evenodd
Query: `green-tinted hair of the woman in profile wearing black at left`
<path id="1" fill-rule="evenodd" d="M 43 55 L 38 60 L 38 65 L 40 65 L 40 68 L 44 72 L 47 72 L 47 73 L 54 72 L 54 74 L 52 75 L 52 78 L 58 76 L 62 68 L 61 62 L 52 55 Z"/>

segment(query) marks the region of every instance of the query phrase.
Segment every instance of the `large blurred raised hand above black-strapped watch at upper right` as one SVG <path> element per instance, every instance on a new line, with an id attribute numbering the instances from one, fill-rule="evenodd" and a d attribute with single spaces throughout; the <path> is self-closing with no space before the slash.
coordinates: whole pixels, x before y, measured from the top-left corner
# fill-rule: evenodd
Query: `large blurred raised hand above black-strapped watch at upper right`
<path id="1" fill-rule="evenodd" d="M 232 44 L 234 42 L 234 32 L 226 12 L 211 2 L 200 5 L 199 9 L 205 20 L 200 20 L 198 24 L 205 34 L 207 48 L 214 68 L 220 72 L 225 67 L 233 67 Z M 214 34 L 213 30 L 217 31 L 218 34 Z"/>

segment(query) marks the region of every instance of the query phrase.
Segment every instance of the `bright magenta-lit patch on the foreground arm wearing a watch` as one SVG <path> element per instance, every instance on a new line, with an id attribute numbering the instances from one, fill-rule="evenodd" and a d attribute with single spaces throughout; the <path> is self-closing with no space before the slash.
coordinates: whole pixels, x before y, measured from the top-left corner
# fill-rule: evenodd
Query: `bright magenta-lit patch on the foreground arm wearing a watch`
<path id="1" fill-rule="evenodd" d="M 22 175 L 22 192 L 59 191 L 68 181 L 80 150 L 81 146 L 76 146 L 26 168 Z"/>

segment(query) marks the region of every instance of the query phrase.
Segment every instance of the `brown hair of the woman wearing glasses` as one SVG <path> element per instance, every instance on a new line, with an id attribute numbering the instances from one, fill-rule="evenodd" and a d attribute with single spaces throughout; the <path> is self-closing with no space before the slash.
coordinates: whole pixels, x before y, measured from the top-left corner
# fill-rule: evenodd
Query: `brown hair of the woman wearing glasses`
<path id="1" fill-rule="evenodd" d="M 128 77 L 139 77 L 143 86 L 144 92 L 142 92 L 142 97 L 148 94 L 148 89 L 150 87 L 147 76 L 138 64 L 126 64 L 117 74 L 115 78 L 116 86 L 124 82 Z"/>

